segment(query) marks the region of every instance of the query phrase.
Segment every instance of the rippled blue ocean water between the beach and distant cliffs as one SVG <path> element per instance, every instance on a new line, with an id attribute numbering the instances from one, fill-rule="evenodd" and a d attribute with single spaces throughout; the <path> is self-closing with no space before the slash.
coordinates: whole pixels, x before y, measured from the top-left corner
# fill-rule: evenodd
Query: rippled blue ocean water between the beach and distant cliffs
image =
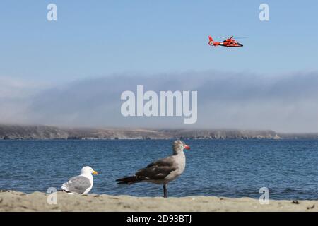
<path id="1" fill-rule="evenodd" d="M 188 140 L 184 173 L 168 184 L 169 196 L 318 198 L 317 140 Z M 26 193 L 60 189 L 89 165 L 91 193 L 162 196 L 162 186 L 116 184 L 160 157 L 172 141 L 0 141 L 0 189 Z"/>

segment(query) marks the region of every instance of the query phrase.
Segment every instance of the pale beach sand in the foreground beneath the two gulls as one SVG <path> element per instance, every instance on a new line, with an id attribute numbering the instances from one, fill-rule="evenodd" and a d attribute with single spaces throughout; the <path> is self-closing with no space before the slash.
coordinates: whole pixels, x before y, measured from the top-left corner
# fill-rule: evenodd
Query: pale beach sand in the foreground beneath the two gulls
<path id="1" fill-rule="evenodd" d="M 54 194 L 55 195 L 55 194 Z M 0 211 L 315 211 L 318 201 L 273 201 L 261 205 L 253 198 L 187 196 L 182 198 L 108 195 L 71 195 L 57 192 L 57 204 L 48 194 L 0 191 Z M 51 196 L 52 197 L 52 196 Z M 54 199 L 51 199 L 54 201 Z"/>

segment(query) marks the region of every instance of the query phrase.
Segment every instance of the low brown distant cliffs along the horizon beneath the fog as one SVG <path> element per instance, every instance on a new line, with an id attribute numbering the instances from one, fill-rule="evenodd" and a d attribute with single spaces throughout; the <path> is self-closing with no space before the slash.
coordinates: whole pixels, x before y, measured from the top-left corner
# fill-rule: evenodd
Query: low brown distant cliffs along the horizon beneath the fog
<path id="1" fill-rule="evenodd" d="M 283 138 L 295 138 L 296 135 Z M 317 136 L 318 137 L 318 136 Z M 92 129 L 1 125 L 0 139 L 279 139 L 275 131 L 208 129 Z"/>

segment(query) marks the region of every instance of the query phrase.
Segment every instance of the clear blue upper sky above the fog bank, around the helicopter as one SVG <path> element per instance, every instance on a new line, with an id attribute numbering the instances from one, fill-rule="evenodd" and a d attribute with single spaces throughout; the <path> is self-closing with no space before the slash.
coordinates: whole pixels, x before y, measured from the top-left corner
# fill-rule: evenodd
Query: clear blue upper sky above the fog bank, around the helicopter
<path id="1" fill-rule="evenodd" d="M 270 21 L 259 20 L 269 4 Z M 46 20 L 47 4 L 58 21 Z M 317 1 L 1 1 L 0 76 L 63 82 L 112 73 L 317 70 Z M 239 49 L 207 36 L 247 36 Z"/>

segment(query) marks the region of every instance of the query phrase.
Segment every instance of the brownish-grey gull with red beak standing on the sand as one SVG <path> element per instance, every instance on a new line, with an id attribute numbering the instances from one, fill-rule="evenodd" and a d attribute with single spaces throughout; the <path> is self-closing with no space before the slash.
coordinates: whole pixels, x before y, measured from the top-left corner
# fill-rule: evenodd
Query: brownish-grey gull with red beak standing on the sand
<path id="1" fill-rule="evenodd" d="M 167 198 L 167 183 L 179 177 L 184 171 L 185 155 L 183 150 L 190 147 L 183 141 L 175 141 L 172 145 L 173 155 L 151 162 L 148 166 L 131 177 L 117 179 L 117 184 L 134 184 L 138 182 L 151 182 L 163 184 L 163 197 Z"/>

